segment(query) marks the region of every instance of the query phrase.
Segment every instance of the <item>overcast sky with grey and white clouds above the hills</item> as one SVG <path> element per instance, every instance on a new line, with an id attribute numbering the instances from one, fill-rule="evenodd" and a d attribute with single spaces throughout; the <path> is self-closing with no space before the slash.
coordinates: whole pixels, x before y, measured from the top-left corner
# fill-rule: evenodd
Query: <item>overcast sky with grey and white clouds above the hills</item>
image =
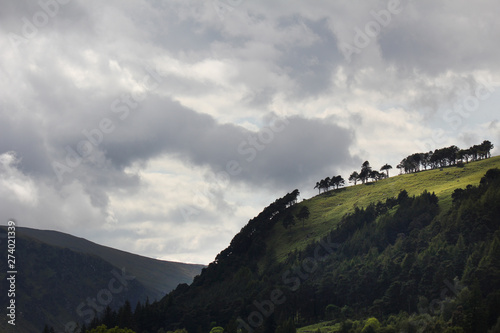
<path id="1" fill-rule="evenodd" d="M 0 224 L 208 264 L 365 160 L 500 151 L 496 0 L 0 2 Z"/>

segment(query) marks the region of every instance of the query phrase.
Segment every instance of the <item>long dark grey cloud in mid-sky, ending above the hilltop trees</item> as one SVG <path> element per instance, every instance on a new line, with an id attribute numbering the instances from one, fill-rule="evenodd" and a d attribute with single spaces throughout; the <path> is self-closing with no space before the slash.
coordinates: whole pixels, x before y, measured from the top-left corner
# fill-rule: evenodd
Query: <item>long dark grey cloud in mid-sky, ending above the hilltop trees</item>
<path id="1" fill-rule="evenodd" d="M 348 153 L 353 132 L 330 121 L 276 118 L 255 133 L 155 97 L 131 112 L 123 123 L 116 121 L 116 130 L 102 144 L 117 169 L 162 154 L 215 172 L 237 161 L 243 172 L 235 180 L 285 187 L 295 178 L 353 162 Z"/>

